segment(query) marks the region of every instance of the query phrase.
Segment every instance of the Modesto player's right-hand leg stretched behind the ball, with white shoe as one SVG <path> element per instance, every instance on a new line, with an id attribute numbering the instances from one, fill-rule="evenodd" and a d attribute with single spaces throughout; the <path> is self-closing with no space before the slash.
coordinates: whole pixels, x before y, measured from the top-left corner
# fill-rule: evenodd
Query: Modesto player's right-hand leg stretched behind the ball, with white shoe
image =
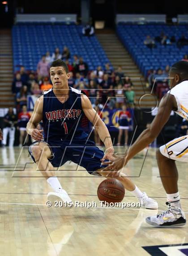
<path id="1" fill-rule="evenodd" d="M 147 209 L 158 209 L 158 203 L 154 199 L 149 198 L 145 192 L 141 192 L 140 189 L 138 189 L 124 173 L 103 171 L 103 169 L 97 170 L 97 173 L 107 179 L 119 180 L 124 185 L 125 189 L 132 192 L 138 198 L 141 203 L 141 207 L 145 207 Z"/>

